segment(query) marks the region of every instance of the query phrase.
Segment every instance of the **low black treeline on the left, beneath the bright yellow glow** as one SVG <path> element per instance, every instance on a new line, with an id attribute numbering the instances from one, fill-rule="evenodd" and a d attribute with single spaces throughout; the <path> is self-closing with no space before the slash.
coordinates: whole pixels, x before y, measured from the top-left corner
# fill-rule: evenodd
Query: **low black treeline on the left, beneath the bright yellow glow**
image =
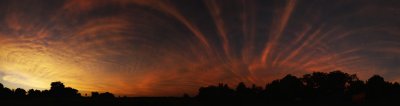
<path id="1" fill-rule="evenodd" d="M 109 99 L 114 98 L 114 94 L 105 92 L 92 92 L 91 98 L 99 98 L 99 99 Z M 10 89 L 4 87 L 3 84 L 0 83 L 0 98 L 1 99 L 20 99 L 20 98 L 82 98 L 82 95 L 78 92 L 78 90 L 65 87 L 62 82 L 52 82 L 50 90 L 35 90 L 29 89 L 28 91 L 17 88 Z"/>

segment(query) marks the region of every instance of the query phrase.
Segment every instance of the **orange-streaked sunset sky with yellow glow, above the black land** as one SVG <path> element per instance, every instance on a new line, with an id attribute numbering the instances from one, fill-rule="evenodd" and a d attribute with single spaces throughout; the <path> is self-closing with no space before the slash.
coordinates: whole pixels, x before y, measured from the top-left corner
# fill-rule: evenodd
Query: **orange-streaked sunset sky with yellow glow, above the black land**
<path id="1" fill-rule="evenodd" d="M 0 83 L 194 95 L 341 70 L 400 81 L 399 0 L 0 0 Z"/>

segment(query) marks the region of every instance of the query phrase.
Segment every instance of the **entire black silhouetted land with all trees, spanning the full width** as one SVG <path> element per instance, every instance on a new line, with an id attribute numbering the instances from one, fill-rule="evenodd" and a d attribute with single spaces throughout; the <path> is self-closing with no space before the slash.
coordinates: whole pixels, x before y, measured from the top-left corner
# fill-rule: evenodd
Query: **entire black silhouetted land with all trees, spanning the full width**
<path id="1" fill-rule="evenodd" d="M 0 84 L 6 105 L 129 105 L 129 106 L 261 106 L 261 105 L 391 105 L 400 103 L 400 84 L 374 75 L 366 81 L 341 71 L 286 75 L 264 87 L 239 83 L 201 87 L 196 96 L 116 97 L 109 92 L 82 96 L 78 90 L 52 82 L 49 90 L 9 89 Z"/>

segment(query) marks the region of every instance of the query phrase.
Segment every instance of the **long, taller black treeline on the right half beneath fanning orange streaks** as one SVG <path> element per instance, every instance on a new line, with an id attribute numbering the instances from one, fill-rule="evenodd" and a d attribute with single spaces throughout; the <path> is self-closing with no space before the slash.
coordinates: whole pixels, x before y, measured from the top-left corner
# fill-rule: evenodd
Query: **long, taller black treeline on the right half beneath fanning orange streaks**
<path id="1" fill-rule="evenodd" d="M 302 77 L 287 75 L 260 87 L 239 83 L 235 89 L 227 84 L 199 89 L 202 103 L 249 104 L 393 104 L 400 101 L 400 85 L 374 75 L 366 81 L 341 71 L 314 72 Z"/>

